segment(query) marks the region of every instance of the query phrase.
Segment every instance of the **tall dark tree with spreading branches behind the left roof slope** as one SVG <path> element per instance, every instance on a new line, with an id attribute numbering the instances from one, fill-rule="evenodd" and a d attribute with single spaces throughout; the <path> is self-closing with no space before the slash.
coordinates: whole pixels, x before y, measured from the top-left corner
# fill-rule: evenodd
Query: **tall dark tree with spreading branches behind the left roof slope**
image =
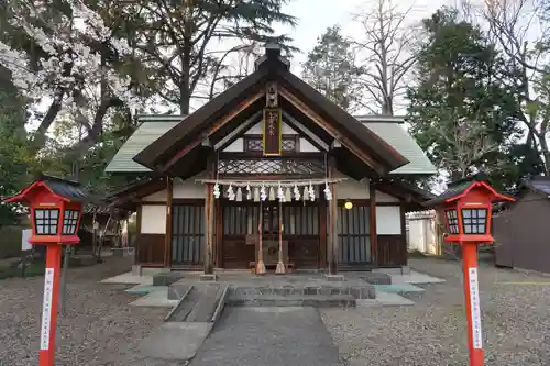
<path id="1" fill-rule="evenodd" d="M 138 30 L 136 47 L 158 70 L 155 92 L 164 101 L 179 107 L 182 114 L 190 112 L 191 99 L 209 98 L 211 74 L 228 64 L 222 63 L 240 46 L 227 43 L 268 40 L 287 44 L 285 35 L 274 36 L 275 23 L 295 25 L 296 19 L 282 12 L 287 0 L 167 0 L 142 1 L 140 18 L 134 21 Z M 127 7 L 135 15 L 134 4 Z M 129 16 L 130 16 L 129 15 Z M 224 49 L 226 48 L 226 49 Z M 292 47 L 290 47 L 292 48 Z M 220 49 L 223 49 L 220 52 Z M 293 48 L 294 49 L 294 48 Z M 216 78 L 216 77 L 215 77 Z M 199 87 L 207 91 L 197 96 Z"/>

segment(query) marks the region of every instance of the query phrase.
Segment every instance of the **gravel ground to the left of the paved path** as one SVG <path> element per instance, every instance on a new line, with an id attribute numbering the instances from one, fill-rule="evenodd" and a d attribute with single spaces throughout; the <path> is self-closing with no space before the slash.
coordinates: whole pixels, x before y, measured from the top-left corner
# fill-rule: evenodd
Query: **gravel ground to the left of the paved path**
<path id="1" fill-rule="evenodd" d="M 168 366 L 142 359 L 140 342 L 168 309 L 130 307 L 138 296 L 97 281 L 130 270 L 131 259 L 110 257 L 69 269 L 67 312 L 57 322 L 56 366 Z M 0 366 L 37 365 L 43 277 L 0 280 Z M 170 365 L 172 366 L 172 365 Z"/>

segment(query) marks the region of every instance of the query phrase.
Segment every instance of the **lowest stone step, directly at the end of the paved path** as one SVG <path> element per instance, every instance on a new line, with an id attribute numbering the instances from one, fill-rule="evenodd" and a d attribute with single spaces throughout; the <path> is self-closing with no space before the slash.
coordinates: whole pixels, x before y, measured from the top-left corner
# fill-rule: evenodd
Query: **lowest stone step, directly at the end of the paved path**
<path id="1" fill-rule="evenodd" d="M 314 307 L 314 308 L 353 308 L 356 300 L 351 295 L 255 295 L 228 297 L 232 307 Z"/>

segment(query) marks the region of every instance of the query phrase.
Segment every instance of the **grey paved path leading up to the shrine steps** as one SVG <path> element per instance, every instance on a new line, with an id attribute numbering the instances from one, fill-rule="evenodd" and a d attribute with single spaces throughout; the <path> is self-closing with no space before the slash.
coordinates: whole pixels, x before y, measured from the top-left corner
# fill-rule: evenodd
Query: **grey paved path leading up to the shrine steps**
<path id="1" fill-rule="evenodd" d="M 190 366 L 340 366 L 314 308 L 229 308 Z"/>

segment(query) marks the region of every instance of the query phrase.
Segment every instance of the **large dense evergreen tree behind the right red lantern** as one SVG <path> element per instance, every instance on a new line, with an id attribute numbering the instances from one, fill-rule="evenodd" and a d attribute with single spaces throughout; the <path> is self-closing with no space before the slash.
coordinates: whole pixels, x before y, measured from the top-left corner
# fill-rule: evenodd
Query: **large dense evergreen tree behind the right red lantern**
<path id="1" fill-rule="evenodd" d="M 438 10 L 424 26 L 417 85 L 408 90 L 413 134 L 452 179 L 485 170 L 501 188 L 514 185 L 525 155 L 517 155 L 519 109 L 502 82 L 503 58 L 453 9 Z"/>

